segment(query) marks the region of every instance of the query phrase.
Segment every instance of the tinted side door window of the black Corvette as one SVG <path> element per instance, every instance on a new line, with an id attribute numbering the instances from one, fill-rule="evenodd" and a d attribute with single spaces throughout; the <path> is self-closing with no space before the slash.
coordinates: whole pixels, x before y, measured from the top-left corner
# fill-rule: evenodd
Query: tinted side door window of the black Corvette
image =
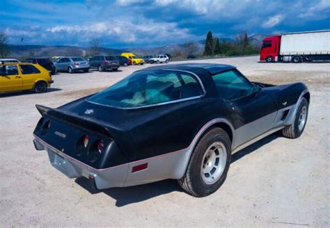
<path id="1" fill-rule="evenodd" d="M 251 95 L 252 85 L 237 70 L 215 74 L 212 79 L 219 95 L 224 99 L 235 100 Z"/>

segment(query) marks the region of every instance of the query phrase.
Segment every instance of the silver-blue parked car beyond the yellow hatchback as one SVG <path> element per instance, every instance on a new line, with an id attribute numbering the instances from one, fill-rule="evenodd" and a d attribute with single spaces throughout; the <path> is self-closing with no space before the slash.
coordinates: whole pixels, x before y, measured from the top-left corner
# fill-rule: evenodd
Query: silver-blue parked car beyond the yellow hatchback
<path id="1" fill-rule="evenodd" d="M 80 57 L 56 58 L 56 60 L 54 60 L 54 65 L 56 67 L 56 71 L 69 72 L 70 74 L 79 71 L 88 72 L 90 67 L 88 61 Z"/>

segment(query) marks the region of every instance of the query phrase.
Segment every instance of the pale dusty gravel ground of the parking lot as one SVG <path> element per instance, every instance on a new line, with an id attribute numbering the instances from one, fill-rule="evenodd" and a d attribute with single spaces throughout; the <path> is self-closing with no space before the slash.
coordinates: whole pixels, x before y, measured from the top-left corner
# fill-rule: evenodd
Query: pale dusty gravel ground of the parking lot
<path id="1" fill-rule="evenodd" d="M 303 135 L 275 133 L 237 152 L 225 183 L 208 197 L 187 195 L 175 180 L 92 190 L 33 147 L 35 105 L 60 106 L 148 65 L 56 74 L 45 94 L 0 95 L 0 227 L 329 227 L 330 63 L 258 63 L 257 56 L 191 62 L 235 65 L 251 81 L 303 81 L 311 90 Z"/>

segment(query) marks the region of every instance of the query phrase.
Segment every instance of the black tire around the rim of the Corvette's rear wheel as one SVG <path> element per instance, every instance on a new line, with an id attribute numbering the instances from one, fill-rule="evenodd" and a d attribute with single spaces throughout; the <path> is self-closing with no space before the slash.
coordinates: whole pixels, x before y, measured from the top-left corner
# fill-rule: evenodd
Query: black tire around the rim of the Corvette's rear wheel
<path id="1" fill-rule="evenodd" d="M 202 166 L 205 165 L 205 155 L 208 149 L 219 143 L 226 148 L 226 165 L 224 165 L 221 175 L 214 183 L 207 184 L 203 179 Z M 226 131 L 221 128 L 212 128 L 199 140 L 193 154 L 191 155 L 188 168 L 184 176 L 178 180 L 180 186 L 187 191 L 187 193 L 195 197 L 204 197 L 214 193 L 218 190 L 225 181 L 230 165 L 231 159 L 231 142 Z M 223 162 L 225 162 L 223 160 Z M 218 161 L 219 164 L 219 161 Z M 212 171 L 211 171 L 212 172 Z"/>

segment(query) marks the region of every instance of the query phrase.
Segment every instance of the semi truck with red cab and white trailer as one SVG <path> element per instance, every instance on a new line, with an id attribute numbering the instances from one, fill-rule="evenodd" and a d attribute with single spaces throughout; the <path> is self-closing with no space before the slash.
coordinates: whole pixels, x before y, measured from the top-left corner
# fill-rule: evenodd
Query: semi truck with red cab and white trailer
<path id="1" fill-rule="evenodd" d="M 330 30 L 283 33 L 262 40 L 260 61 L 301 63 L 327 60 L 330 60 Z"/>

